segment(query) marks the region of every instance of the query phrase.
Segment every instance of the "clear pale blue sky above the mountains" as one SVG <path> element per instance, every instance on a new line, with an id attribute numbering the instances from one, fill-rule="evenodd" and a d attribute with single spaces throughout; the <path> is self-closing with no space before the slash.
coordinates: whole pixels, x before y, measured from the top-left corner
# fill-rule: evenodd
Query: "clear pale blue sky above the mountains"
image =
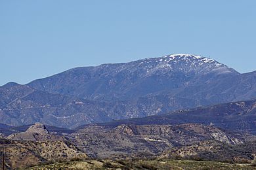
<path id="1" fill-rule="evenodd" d="M 255 71 L 255 9 L 255 0 L 0 1 L 0 85 L 176 53 Z"/>

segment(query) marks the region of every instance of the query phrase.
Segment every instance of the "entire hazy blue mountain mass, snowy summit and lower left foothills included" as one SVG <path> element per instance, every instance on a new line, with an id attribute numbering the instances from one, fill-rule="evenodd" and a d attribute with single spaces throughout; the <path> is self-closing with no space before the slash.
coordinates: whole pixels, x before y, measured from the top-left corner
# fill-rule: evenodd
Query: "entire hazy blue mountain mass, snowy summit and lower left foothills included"
<path id="1" fill-rule="evenodd" d="M 0 123 L 75 128 L 251 99 L 256 72 L 240 74 L 213 59 L 173 54 L 79 67 L 26 85 L 0 87 Z"/>

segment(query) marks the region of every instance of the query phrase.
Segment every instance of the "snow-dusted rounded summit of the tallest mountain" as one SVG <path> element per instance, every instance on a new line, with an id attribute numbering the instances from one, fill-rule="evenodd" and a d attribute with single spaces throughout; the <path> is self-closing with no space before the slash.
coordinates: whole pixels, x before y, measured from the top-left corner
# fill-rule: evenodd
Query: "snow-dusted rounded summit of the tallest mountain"
<path id="1" fill-rule="evenodd" d="M 137 61 L 135 61 L 137 62 Z M 192 54 L 171 54 L 160 58 L 146 58 L 139 60 L 140 67 L 147 75 L 159 71 L 165 73 L 238 73 L 218 61 Z"/>

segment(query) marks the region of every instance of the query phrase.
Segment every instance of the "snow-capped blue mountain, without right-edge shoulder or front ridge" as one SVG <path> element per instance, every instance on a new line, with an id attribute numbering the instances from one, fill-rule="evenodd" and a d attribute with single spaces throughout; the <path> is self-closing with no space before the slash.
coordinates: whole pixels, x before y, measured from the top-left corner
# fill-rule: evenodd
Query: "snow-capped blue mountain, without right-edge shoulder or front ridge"
<path id="1" fill-rule="evenodd" d="M 123 100 L 153 93 L 178 93 L 188 86 L 215 82 L 240 73 L 213 59 L 188 54 L 147 58 L 130 63 L 78 67 L 28 86 L 85 99 Z"/>

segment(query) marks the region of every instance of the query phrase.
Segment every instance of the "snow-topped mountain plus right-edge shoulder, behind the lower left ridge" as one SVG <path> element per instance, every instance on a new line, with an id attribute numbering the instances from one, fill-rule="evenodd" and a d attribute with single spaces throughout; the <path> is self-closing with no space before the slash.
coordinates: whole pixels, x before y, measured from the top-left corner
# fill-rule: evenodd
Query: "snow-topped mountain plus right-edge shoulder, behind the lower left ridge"
<path id="1" fill-rule="evenodd" d="M 168 95 L 192 99 L 198 106 L 251 99 L 256 96 L 255 81 L 256 72 L 240 74 L 214 59 L 173 54 L 130 63 L 78 67 L 34 80 L 28 86 L 91 100 Z"/>

